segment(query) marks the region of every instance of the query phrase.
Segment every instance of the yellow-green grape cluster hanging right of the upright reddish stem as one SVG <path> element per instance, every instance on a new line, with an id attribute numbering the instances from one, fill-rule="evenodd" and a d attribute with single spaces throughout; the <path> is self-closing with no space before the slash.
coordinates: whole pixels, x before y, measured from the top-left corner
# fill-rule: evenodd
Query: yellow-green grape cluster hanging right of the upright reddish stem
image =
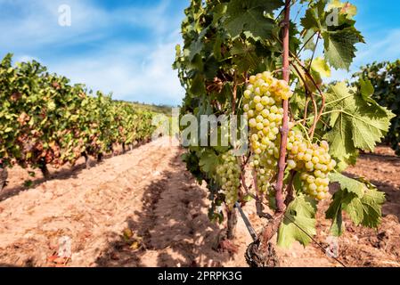
<path id="1" fill-rule="evenodd" d="M 315 199 L 325 199 L 329 191 L 328 175 L 336 167 L 336 161 L 328 153 L 328 142 L 311 144 L 301 132 L 291 130 L 287 150 L 288 168 L 300 173 L 302 190 Z"/>

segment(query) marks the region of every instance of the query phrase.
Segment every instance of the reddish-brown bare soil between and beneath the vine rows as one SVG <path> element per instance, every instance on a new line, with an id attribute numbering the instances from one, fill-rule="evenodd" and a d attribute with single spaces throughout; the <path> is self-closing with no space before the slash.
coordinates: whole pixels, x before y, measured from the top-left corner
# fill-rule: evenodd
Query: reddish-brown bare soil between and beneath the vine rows
<path id="1" fill-rule="evenodd" d="M 208 220 L 207 189 L 192 179 L 169 138 L 85 169 L 51 169 L 45 181 L 18 167 L 0 193 L 1 266 L 247 266 L 251 241 L 241 218 L 233 242 L 217 248 L 224 225 Z M 400 159 L 388 148 L 363 154 L 348 175 L 361 175 L 387 193 L 378 230 L 351 225 L 339 238 L 348 266 L 400 266 Z M 24 182 L 32 180 L 29 189 Z M 26 184 L 26 183 L 25 183 Z M 329 222 L 318 215 L 318 241 L 327 247 Z M 244 211 L 259 231 L 252 205 Z M 70 240 L 70 258 L 61 258 Z M 221 244 L 220 244 L 221 245 Z M 282 266 L 340 266 L 315 244 L 278 248 Z"/>

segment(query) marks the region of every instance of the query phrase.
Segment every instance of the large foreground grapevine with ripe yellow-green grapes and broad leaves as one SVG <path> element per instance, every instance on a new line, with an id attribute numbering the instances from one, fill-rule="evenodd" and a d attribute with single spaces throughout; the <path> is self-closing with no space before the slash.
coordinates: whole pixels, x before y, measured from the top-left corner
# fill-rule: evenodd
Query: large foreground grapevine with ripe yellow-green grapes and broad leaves
<path id="1" fill-rule="evenodd" d="M 306 6 L 297 21 L 290 19 L 296 3 Z M 249 247 L 248 260 L 273 255 L 275 233 L 282 247 L 311 242 L 322 199 L 331 201 L 326 217 L 333 235 L 344 231 L 343 212 L 355 224 L 380 223 L 384 194 L 343 172 L 360 151 L 373 151 L 394 115 L 364 86 L 324 84 L 331 69 L 349 68 L 355 45 L 364 42 L 355 11 L 336 0 L 192 0 L 185 10 L 184 45 L 176 46 L 174 63 L 186 91 L 181 113 L 247 116 L 249 150 L 234 159 L 235 145 L 191 145 L 184 161 L 208 184 L 212 219 L 223 220 L 224 202 L 232 224 L 234 202 L 253 199 L 258 216 L 268 219 Z M 339 22 L 332 24 L 328 19 L 335 12 Z M 216 165 L 221 157 L 224 163 Z M 249 176 L 254 187 L 246 184 Z M 339 183 L 339 191 L 331 192 L 331 183 Z M 273 216 L 263 212 L 265 207 Z"/>

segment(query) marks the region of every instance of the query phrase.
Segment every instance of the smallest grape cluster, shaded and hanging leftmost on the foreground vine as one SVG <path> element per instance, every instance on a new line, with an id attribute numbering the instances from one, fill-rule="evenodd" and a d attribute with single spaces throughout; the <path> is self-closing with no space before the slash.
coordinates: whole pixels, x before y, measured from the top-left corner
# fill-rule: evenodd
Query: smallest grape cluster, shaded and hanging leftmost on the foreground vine
<path id="1" fill-rule="evenodd" d="M 241 167 L 233 151 L 222 155 L 222 164 L 216 167 L 217 180 L 221 184 L 228 208 L 233 208 L 238 200 L 238 190 L 241 185 Z"/>

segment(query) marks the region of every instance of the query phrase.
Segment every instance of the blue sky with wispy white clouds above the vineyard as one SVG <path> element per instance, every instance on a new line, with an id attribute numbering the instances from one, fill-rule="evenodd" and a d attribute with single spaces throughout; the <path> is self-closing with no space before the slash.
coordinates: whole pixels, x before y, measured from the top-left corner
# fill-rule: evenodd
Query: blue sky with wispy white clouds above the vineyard
<path id="1" fill-rule="evenodd" d="M 353 0 L 367 45 L 352 70 L 400 58 L 400 1 Z M 71 26 L 58 24 L 59 6 Z M 176 105 L 184 91 L 171 69 L 189 0 L 0 0 L 0 56 L 35 59 L 50 71 L 115 99 Z M 296 11 L 294 12 L 296 14 Z M 334 79 L 349 77 L 333 72 Z"/>

